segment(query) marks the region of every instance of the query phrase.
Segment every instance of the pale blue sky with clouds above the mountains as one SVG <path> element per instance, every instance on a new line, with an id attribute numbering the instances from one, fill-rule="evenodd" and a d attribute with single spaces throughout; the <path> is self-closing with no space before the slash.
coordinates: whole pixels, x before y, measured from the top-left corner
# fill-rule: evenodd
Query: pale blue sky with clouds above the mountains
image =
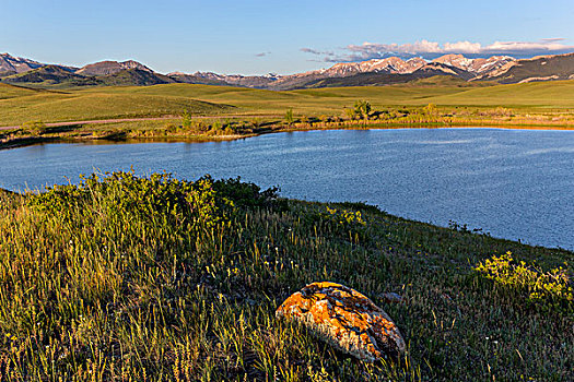
<path id="1" fill-rule="evenodd" d="M 573 0 L 0 0 L 0 52 L 290 74 L 388 56 L 571 52 L 573 20 Z"/>

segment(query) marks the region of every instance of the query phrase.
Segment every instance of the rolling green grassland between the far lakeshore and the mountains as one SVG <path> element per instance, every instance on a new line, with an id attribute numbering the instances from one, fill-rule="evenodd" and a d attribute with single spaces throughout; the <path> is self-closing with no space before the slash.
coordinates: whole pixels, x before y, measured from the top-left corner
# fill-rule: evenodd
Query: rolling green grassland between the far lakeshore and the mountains
<path id="1" fill-rule="evenodd" d="M 574 81 L 517 85 L 461 86 L 458 82 L 427 79 L 391 86 L 339 87 L 272 92 L 231 86 L 166 84 L 109 86 L 40 92 L 0 85 L 0 126 L 43 122 L 159 117 L 180 115 L 261 115 L 281 117 L 292 108 L 295 117 L 341 116 L 343 108 L 365 99 L 374 109 L 422 107 L 436 104 L 445 111 L 459 107 L 483 109 L 504 106 L 520 112 L 570 112 L 574 109 Z"/>

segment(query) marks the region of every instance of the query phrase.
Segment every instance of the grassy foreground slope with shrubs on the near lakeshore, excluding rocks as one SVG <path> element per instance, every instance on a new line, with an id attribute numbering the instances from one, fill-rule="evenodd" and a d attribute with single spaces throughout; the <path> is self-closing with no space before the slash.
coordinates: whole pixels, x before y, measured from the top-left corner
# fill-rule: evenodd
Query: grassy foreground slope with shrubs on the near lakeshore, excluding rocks
<path id="1" fill-rule="evenodd" d="M 573 260 L 238 179 L 0 191 L 0 379 L 573 380 Z M 274 319 L 316 280 L 383 307 L 406 356 L 356 361 Z"/>

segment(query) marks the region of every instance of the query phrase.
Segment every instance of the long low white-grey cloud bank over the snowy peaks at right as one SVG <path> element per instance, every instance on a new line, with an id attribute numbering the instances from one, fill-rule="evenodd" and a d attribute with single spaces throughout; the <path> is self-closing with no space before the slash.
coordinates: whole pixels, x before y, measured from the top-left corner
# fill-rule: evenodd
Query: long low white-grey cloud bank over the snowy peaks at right
<path id="1" fill-rule="evenodd" d="M 564 44 L 563 38 L 543 38 L 538 41 L 494 41 L 490 45 L 471 41 L 440 43 L 422 39 L 413 44 L 363 43 L 348 45 L 339 53 L 302 48 L 303 52 L 321 56 L 325 62 L 362 61 L 389 56 L 423 57 L 434 59 L 447 53 L 464 53 L 469 57 L 511 55 L 519 58 L 539 55 L 560 55 L 571 52 L 574 46 Z"/>

